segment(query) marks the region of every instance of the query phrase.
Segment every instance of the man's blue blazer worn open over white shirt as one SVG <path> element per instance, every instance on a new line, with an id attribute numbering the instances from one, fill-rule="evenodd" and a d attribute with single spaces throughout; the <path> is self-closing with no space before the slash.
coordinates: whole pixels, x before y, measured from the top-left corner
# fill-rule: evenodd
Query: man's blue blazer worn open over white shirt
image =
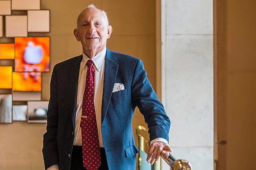
<path id="1" fill-rule="evenodd" d="M 70 169 L 81 60 L 82 56 L 77 56 L 54 66 L 42 148 L 45 168 L 58 164 L 60 170 Z M 112 93 L 115 83 L 122 83 L 125 89 Z M 136 106 L 144 116 L 150 140 L 161 137 L 168 141 L 170 120 L 146 77 L 142 61 L 107 49 L 101 123 L 110 170 L 136 169 L 139 150 L 132 130 Z"/>

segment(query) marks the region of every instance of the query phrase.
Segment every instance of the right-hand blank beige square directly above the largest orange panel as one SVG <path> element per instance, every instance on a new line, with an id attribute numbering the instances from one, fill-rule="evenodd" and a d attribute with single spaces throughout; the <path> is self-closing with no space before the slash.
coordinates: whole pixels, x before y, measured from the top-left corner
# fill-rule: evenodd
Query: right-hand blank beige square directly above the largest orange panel
<path id="1" fill-rule="evenodd" d="M 28 11 L 28 32 L 50 32 L 50 11 Z"/>

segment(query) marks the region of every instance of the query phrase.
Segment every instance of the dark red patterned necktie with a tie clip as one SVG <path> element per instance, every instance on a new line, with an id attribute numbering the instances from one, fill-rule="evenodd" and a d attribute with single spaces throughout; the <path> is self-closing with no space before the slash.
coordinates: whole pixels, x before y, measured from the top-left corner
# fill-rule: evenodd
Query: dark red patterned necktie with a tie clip
<path id="1" fill-rule="evenodd" d="M 101 164 L 99 151 L 99 136 L 97 130 L 95 108 L 93 102 L 94 68 L 93 61 L 87 61 L 86 88 L 82 100 L 82 116 L 80 127 L 82 129 L 82 156 L 83 166 L 96 170 Z"/>

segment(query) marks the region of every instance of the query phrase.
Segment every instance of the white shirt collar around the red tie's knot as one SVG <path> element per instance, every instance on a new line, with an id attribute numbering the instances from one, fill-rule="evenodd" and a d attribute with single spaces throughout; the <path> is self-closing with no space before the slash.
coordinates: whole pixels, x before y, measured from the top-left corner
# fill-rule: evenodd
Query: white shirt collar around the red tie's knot
<path id="1" fill-rule="evenodd" d="M 98 71 L 100 71 L 100 68 L 102 67 L 102 64 L 105 60 L 105 56 L 106 56 L 106 47 L 99 54 L 97 54 L 94 58 L 91 59 Z M 86 67 L 86 63 L 88 60 L 90 59 L 87 57 L 87 55 L 82 53 L 82 63 L 81 63 L 82 69 Z"/>

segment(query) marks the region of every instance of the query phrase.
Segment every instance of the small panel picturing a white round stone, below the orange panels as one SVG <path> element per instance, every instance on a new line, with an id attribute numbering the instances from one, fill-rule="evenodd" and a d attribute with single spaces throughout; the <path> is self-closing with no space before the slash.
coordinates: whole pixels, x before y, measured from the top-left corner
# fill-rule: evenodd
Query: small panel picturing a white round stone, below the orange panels
<path id="1" fill-rule="evenodd" d="M 28 123 L 47 123 L 49 101 L 28 102 Z"/>

